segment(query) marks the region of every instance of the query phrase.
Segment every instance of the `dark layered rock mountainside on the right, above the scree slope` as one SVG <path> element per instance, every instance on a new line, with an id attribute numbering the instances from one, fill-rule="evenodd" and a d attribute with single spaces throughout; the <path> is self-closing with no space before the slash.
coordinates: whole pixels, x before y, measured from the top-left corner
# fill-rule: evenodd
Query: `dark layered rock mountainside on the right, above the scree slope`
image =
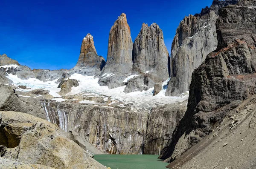
<path id="1" fill-rule="evenodd" d="M 175 160 L 218 126 L 241 100 L 256 94 L 255 5 L 253 0 L 240 1 L 219 10 L 217 50 L 193 72 L 188 110 L 160 158 Z"/>

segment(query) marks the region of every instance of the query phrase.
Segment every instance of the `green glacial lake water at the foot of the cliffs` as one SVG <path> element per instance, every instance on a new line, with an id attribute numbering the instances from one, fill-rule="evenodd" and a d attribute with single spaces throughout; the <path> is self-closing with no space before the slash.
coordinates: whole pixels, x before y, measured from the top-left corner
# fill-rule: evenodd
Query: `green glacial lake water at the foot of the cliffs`
<path id="1" fill-rule="evenodd" d="M 159 155 L 94 155 L 94 159 L 111 169 L 166 169 L 169 163 Z"/>

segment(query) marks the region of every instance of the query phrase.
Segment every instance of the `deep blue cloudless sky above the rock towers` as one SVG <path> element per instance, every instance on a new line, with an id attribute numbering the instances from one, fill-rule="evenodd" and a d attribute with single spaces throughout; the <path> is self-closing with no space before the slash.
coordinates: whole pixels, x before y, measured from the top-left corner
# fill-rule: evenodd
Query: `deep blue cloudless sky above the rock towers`
<path id="1" fill-rule="evenodd" d="M 83 37 L 90 33 L 97 53 L 106 58 L 109 31 L 122 12 L 133 41 L 143 22 L 157 23 L 170 52 L 180 20 L 211 4 L 212 0 L 0 0 L 0 54 L 31 69 L 70 69 Z"/>

